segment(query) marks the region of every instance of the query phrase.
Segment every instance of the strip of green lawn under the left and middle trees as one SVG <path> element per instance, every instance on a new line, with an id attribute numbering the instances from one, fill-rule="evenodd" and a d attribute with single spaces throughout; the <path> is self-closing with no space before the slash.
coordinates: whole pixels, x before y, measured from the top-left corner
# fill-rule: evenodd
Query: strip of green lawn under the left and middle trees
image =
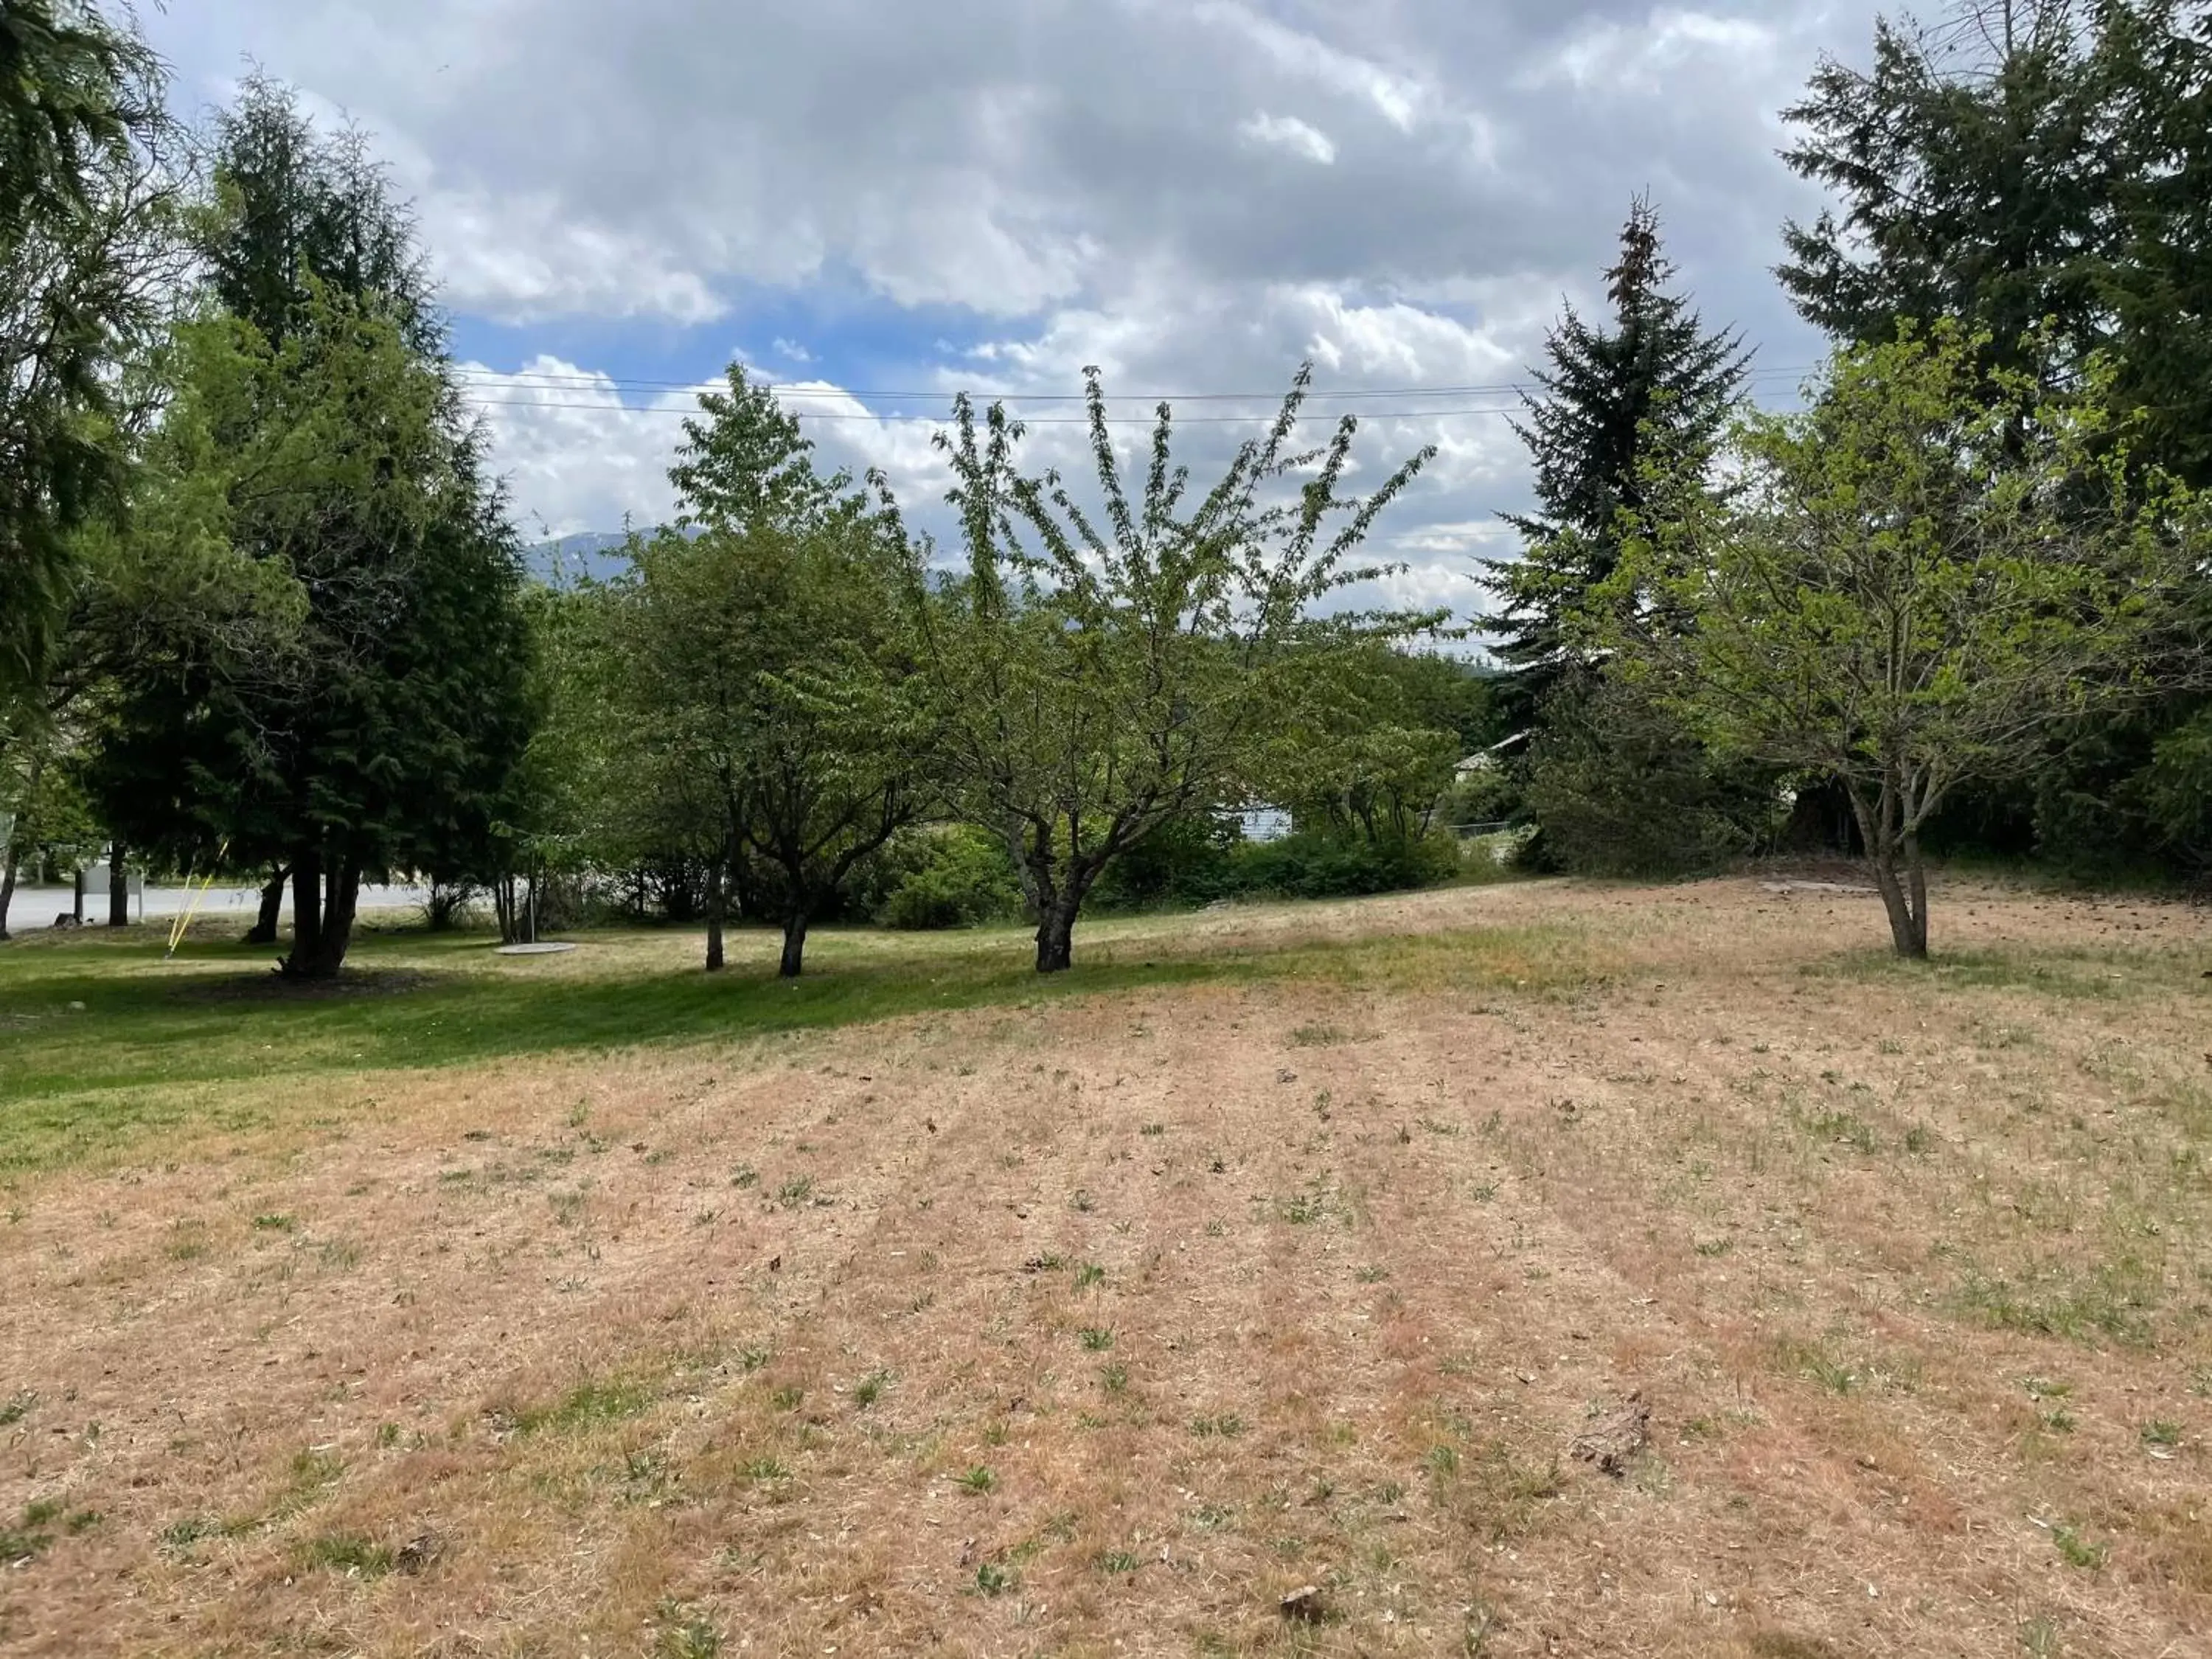
<path id="1" fill-rule="evenodd" d="M 292 987 L 268 949 L 199 936 L 164 960 L 157 929 L 0 949 L 0 1172 L 80 1161 L 146 1128 L 232 1121 L 237 1084 L 480 1064 L 843 1026 L 1265 975 L 1451 984 L 1579 982 L 1573 929 L 1480 929 L 1316 942 L 1281 931 L 1194 940 L 1190 918 L 1086 927 L 1073 973 L 1031 971 L 1020 929 L 825 929 L 801 980 L 774 975 L 774 933 L 737 933 L 699 969 L 684 931 L 606 929 L 566 956 L 498 956 L 484 933 L 365 931 L 334 987 Z"/>

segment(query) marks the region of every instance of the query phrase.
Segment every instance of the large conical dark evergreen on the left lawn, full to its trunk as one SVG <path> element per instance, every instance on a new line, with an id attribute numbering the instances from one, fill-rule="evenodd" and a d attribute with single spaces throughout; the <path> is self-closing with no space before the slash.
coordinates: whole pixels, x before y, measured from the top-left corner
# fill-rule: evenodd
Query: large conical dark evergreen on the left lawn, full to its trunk
<path id="1" fill-rule="evenodd" d="M 150 637 L 97 781 L 133 843 L 290 869 L 283 969 L 327 978 L 365 878 L 493 836 L 531 726 L 520 553 L 361 137 L 254 82 L 217 122 L 215 181 L 142 533 L 274 571 L 294 626 L 243 653 Z"/>

